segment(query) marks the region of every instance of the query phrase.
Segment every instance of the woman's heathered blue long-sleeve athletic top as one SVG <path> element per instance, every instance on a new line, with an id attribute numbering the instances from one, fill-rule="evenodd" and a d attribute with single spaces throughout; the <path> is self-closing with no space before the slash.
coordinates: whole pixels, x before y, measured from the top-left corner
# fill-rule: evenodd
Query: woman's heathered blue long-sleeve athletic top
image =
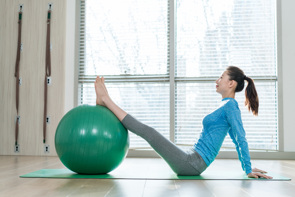
<path id="1" fill-rule="evenodd" d="M 206 165 L 209 166 L 218 155 L 227 133 L 235 144 L 243 170 L 246 174 L 252 172 L 241 111 L 237 101 L 233 98 L 222 99 L 216 110 L 204 116 L 202 130 L 196 138 L 193 149 L 201 155 Z"/>

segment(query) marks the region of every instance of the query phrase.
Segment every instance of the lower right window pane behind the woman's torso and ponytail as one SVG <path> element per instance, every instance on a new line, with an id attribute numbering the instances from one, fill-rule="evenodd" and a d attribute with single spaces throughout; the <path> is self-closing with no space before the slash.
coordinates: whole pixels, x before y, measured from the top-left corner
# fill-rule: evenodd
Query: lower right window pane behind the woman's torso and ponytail
<path id="1" fill-rule="evenodd" d="M 244 107 L 245 91 L 238 92 L 242 122 L 249 148 L 278 148 L 276 82 L 255 82 L 259 97 L 259 112 L 255 117 Z M 204 115 L 215 110 L 221 95 L 215 92 L 214 83 L 180 83 L 176 85 L 176 144 L 194 144 L 202 129 Z M 227 135 L 222 146 L 235 147 Z"/>

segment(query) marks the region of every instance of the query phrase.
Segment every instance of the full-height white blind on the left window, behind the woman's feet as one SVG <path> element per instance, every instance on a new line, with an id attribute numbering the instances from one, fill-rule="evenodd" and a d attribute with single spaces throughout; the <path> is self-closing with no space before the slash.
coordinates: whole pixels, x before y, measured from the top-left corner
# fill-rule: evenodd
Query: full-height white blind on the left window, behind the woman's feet
<path id="1" fill-rule="evenodd" d="M 117 105 L 169 138 L 168 1 L 80 1 L 78 105 L 104 76 Z M 130 132 L 130 147 L 149 147 Z"/>

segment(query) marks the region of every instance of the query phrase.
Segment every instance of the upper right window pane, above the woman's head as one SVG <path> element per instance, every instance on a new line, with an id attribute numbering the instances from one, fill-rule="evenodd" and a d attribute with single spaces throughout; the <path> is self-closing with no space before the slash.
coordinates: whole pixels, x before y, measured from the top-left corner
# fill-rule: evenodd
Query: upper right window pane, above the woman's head
<path id="1" fill-rule="evenodd" d="M 275 0 L 177 0 L 176 77 L 276 76 Z"/>

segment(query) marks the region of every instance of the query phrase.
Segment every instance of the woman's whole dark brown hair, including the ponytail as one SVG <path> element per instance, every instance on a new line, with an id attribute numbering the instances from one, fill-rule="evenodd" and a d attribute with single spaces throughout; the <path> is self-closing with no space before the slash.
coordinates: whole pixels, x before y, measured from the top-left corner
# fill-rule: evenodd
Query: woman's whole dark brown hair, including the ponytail
<path id="1" fill-rule="evenodd" d="M 236 66 L 227 66 L 225 70 L 228 71 L 228 79 L 230 81 L 234 80 L 237 82 L 235 92 L 241 92 L 244 89 L 245 80 L 248 82 L 248 85 L 245 89 L 245 106 L 248 106 L 249 112 L 251 110 L 253 115 L 257 116 L 259 100 L 253 79 L 246 76 L 242 69 Z"/>

